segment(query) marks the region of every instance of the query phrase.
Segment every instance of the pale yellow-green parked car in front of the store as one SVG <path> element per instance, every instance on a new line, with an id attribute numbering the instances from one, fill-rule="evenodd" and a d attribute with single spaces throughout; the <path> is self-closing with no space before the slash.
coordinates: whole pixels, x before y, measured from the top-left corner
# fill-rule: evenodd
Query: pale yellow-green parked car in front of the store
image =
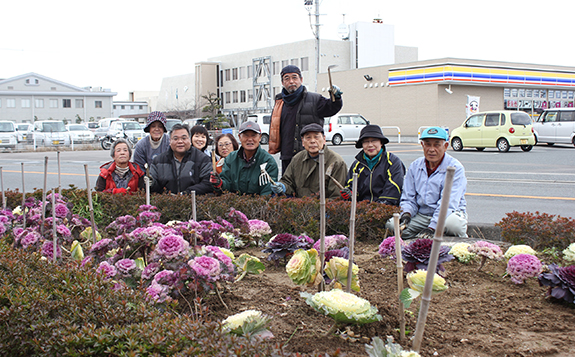
<path id="1" fill-rule="evenodd" d="M 451 132 L 451 147 L 461 151 L 464 147 L 497 148 L 501 152 L 519 146 L 530 151 L 535 145 L 531 117 L 522 111 L 489 111 L 471 115 Z"/>

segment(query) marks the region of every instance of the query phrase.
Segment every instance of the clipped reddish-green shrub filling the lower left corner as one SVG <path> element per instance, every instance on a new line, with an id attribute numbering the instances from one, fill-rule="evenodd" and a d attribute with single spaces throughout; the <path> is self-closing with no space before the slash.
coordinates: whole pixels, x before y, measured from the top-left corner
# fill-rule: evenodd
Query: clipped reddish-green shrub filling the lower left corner
<path id="1" fill-rule="evenodd" d="M 0 242 L 0 355 L 283 355 L 266 342 L 222 331 L 205 313 L 161 311 L 140 290 L 92 268 L 54 264 Z"/>

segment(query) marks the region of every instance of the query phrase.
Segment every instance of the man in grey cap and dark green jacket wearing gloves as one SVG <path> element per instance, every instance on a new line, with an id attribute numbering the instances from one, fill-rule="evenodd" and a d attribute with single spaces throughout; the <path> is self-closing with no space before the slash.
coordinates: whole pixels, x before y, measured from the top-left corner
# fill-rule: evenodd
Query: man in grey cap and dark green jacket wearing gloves
<path id="1" fill-rule="evenodd" d="M 237 192 L 239 194 L 271 195 L 270 183 L 260 185 L 261 165 L 276 181 L 278 165 L 267 151 L 260 147 L 261 129 L 257 123 L 247 121 L 240 125 L 241 147 L 224 160 L 221 175 L 210 174 L 210 182 L 216 191 Z"/>

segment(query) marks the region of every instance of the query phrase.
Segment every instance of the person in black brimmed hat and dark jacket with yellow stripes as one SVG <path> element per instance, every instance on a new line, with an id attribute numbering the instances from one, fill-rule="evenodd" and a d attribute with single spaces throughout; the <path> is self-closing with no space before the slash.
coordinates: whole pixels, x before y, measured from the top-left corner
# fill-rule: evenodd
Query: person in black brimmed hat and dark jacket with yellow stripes
<path id="1" fill-rule="evenodd" d="M 365 126 L 355 147 L 362 148 L 347 173 L 346 187 L 341 191 L 343 199 L 353 194 L 353 174 L 357 173 L 357 200 L 398 206 L 403 188 L 405 166 L 394 154 L 385 150 L 389 140 L 377 125 Z"/>

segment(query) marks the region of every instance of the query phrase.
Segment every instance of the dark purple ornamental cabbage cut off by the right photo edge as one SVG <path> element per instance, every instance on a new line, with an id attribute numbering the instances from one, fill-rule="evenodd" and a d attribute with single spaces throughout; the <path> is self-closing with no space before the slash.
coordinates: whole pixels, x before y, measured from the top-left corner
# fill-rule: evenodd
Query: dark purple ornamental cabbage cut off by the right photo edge
<path id="1" fill-rule="evenodd" d="M 539 275 L 539 285 L 548 286 L 547 296 L 575 303 L 575 265 L 549 264 L 550 273 Z"/>

